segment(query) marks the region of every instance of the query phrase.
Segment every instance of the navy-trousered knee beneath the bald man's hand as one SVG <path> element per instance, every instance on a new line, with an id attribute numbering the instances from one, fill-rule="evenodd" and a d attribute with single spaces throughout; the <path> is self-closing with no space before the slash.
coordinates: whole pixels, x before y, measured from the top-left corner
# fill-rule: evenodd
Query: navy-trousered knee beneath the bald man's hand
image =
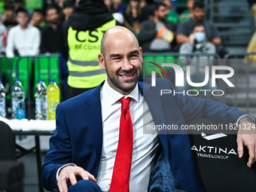
<path id="1" fill-rule="evenodd" d="M 102 192 L 102 190 L 100 189 L 99 185 L 96 184 L 93 181 L 89 181 L 89 180 L 81 180 L 78 181 L 75 185 L 70 185 L 69 186 L 69 192 Z"/>

